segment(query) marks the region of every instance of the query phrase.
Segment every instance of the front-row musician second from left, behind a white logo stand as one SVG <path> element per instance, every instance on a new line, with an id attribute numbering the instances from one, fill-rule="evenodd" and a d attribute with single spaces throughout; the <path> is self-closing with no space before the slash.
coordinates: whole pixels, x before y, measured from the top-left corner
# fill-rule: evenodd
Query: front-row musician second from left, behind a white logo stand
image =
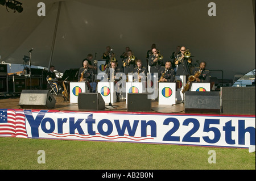
<path id="1" fill-rule="evenodd" d="M 110 68 L 106 69 L 106 74 L 108 75 L 108 79 L 109 82 L 114 82 L 114 85 L 117 83 L 117 80 L 119 80 L 119 78 L 116 77 L 117 73 L 120 73 L 121 70 L 119 68 L 117 68 L 117 62 L 116 61 L 112 61 L 110 63 Z M 119 102 L 119 92 L 116 92 L 117 95 L 117 102 Z"/>

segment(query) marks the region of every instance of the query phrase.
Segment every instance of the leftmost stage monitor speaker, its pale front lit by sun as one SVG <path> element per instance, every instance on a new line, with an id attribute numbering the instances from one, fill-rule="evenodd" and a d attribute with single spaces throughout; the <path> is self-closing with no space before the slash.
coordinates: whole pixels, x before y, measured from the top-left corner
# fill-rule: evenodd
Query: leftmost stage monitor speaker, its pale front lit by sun
<path id="1" fill-rule="evenodd" d="M 19 106 L 23 109 L 52 109 L 56 100 L 48 90 L 22 90 Z"/>

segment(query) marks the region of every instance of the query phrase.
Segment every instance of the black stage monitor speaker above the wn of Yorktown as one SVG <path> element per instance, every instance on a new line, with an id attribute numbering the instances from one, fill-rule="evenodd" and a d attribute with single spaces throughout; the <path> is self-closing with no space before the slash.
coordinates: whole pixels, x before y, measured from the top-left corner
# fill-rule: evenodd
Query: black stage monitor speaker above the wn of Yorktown
<path id="1" fill-rule="evenodd" d="M 148 93 L 128 93 L 127 97 L 127 111 L 151 111 Z"/>

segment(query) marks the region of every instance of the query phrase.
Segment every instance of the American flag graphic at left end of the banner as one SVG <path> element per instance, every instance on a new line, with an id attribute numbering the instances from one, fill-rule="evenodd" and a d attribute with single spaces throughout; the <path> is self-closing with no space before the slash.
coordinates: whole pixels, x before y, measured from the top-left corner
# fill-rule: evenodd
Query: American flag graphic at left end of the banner
<path id="1" fill-rule="evenodd" d="M 27 138 L 24 113 L 11 109 L 1 109 L 0 135 Z"/>

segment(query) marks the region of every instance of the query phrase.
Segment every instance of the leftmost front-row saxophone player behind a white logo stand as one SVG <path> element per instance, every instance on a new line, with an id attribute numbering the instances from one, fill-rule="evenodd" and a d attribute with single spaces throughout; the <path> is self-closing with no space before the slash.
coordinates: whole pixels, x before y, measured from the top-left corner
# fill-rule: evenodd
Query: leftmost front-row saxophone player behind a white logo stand
<path id="1" fill-rule="evenodd" d="M 87 82 L 88 89 L 91 89 L 90 82 L 93 79 L 93 69 L 89 68 L 89 62 L 85 60 L 83 66 L 79 69 L 78 81 Z"/>

